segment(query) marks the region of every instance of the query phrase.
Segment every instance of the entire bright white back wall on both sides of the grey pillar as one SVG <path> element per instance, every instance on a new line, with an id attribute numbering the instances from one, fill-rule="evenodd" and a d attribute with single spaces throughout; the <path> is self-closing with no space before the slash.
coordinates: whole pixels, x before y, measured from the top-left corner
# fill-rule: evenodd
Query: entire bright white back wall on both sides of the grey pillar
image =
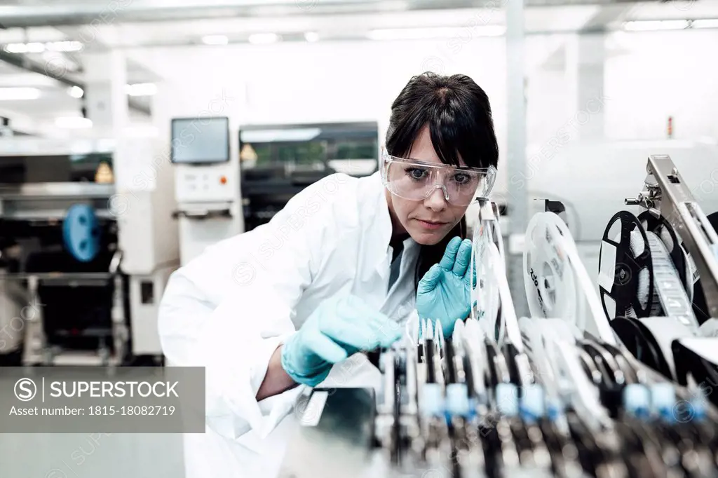
<path id="1" fill-rule="evenodd" d="M 242 123 L 379 121 L 386 128 L 392 100 L 411 75 L 424 70 L 470 75 L 488 93 L 505 160 L 505 44 L 476 37 L 405 42 L 332 42 L 264 46 L 129 50 L 165 78 L 167 116 L 217 112 Z M 712 48 L 718 31 L 610 34 L 605 62 L 607 139 L 665 139 L 673 116 L 676 139 L 718 138 L 718 69 Z M 528 144 L 577 141 L 577 128 L 600 116 L 576 111 L 565 65 L 541 67 L 560 36 L 528 37 Z M 162 85 L 160 85 L 162 89 Z M 585 109 L 585 108 L 584 108 Z M 202 113 L 204 112 L 204 113 Z M 164 128 L 161 128 L 161 131 Z M 579 167 L 579 165 L 577 165 Z M 508 184 L 500 168 L 498 188 Z"/>

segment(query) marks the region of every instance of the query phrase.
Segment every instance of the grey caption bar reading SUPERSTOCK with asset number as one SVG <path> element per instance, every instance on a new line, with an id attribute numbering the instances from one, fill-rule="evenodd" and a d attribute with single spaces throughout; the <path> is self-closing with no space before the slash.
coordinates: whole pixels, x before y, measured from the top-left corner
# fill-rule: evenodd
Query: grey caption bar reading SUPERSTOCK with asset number
<path id="1" fill-rule="evenodd" d="M 0 430 L 205 433 L 205 369 L 0 367 Z"/>

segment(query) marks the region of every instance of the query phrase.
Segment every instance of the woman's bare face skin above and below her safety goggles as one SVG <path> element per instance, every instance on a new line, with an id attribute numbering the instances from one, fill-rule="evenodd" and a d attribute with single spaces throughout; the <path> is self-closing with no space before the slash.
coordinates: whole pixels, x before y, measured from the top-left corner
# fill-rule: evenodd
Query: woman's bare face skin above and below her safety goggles
<path id="1" fill-rule="evenodd" d="M 424 126 L 411 145 L 409 157 L 419 161 L 443 164 L 432 145 L 429 127 Z M 462 166 L 464 166 L 462 162 Z M 439 243 L 464 217 L 468 206 L 452 205 L 444 199 L 442 189 L 434 189 L 425 200 L 412 201 L 391 194 L 386 190 L 393 234 L 409 233 L 411 238 L 423 245 Z"/>

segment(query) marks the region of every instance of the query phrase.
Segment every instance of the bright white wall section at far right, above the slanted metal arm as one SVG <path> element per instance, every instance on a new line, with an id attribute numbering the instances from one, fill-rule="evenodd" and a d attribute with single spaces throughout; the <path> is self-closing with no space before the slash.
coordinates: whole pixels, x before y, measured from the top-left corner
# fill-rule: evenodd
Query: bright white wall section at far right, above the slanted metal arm
<path id="1" fill-rule="evenodd" d="M 606 65 L 607 136 L 718 138 L 717 30 L 615 34 Z M 625 51 L 624 54 L 618 54 Z"/>

